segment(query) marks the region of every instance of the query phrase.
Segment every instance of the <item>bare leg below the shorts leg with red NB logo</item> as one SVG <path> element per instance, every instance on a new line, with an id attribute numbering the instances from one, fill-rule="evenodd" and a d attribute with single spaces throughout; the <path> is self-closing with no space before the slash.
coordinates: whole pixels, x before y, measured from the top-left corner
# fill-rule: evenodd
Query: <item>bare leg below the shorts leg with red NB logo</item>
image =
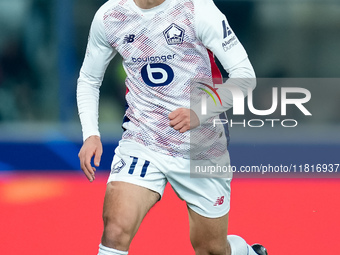
<path id="1" fill-rule="evenodd" d="M 229 250 L 226 241 L 229 213 L 218 218 L 207 218 L 196 213 L 189 207 L 188 213 L 190 240 L 196 252 L 197 250 L 205 250 L 219 254 L 221 251 L 227 252 Z"/>

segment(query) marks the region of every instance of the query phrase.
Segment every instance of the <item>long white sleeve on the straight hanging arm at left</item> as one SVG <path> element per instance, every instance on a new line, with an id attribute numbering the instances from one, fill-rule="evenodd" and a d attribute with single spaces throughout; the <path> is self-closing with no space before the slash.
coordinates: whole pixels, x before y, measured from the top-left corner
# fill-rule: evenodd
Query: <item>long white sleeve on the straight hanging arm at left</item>
<path id="1" fill-rule="evenodd" d="M 86 55 L 77 82 L 78 114 L 83 131 L 83 140 L 98 135 L 99 88 L 104 73 L 116 50 L 107 42 L 101 9 L 96 13 L 86 49 Z"/>

